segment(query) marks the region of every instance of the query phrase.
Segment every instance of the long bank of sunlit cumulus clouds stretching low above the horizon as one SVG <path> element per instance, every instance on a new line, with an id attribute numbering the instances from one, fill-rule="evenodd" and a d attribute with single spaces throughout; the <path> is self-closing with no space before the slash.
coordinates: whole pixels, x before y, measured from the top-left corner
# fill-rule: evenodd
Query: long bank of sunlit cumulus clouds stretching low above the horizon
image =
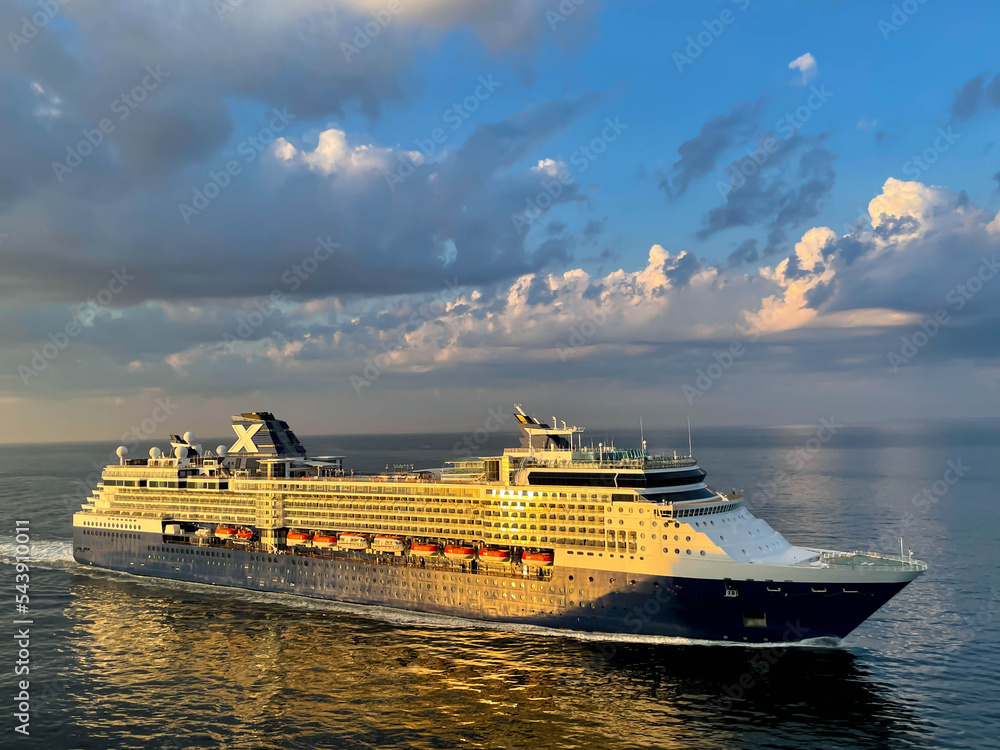
<path id="1" fill-rule="evenodd" d="M 317 175 L 305 163 L 293 168 Z M 805 398 L 803 383 L 853 382 L 884 400 L 908 382 L 887 380 L 897 376 L 886 353 L 940 308 L 951 316 L 947 331 L 922 351 L 919 366 L 996 368 L 1000 284 L 983 281 L 960 308 L 949 294 L 990 273 L 984 263 L 996 266 L 1000 219 L 961 194 L 895 179 L 868 210 L 870 222 L 846 234 L 807 229 L 787 257 L 758 273 L 654 245 L 638 267 L 593 273 L 564 263 L 509 281 L 449 281 L 435 292 L 391 296 L 319 291 L 256 320 L 253 299 L 145 302 L 103 314 L 74 341 L 74 367 L 53 367 L 32 393 L 99 399 L 169 387 L 192 400 L 232 401 L 266 391 L 269 403 L 322 393 L 339 394 L 349 410 L 357 396 L 377 394 L 384 406 L 396 393 L 430 398 L 432 388 L 448 388 L 449 404 L 464 398 L 472 408 L 486 393 L 495 398 L 518 384 L 538 393 L 551 382 L 595 398 L 594 388 L 618 387 L 669 403 L 682 398 L 680 386 L 692 382 L 699 362 L 736 341 L 746 354 L 713 398 L 734 388 L 748 389 L 743 399 L 775 390 Z M 744 248 L 747 262 L 754 250 Z M 996 268 L 989 278 L 1000 275 Z M 65 315 L 59 306 L 44 315 L 0 313 L 4 360 L 30 360 Z M 947 372 L 929 382 L 943 387 L 954 377 Z M 22 392 L 10 373 L 0 397 Z M 362 403 L 370 412 L 371 402 Z"/>

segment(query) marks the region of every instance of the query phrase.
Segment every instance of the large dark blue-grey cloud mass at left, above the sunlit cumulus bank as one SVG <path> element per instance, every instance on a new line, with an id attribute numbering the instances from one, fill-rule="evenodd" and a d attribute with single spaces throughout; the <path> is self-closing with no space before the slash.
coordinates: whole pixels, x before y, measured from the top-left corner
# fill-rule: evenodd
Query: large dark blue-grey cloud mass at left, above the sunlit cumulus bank
<path id="1" fill-rule="evenodd" d="M 401 293 L 440 289 L 447 279 L 509 278 L 565 260 L 571 249 L 570 240 L 557 238 L 526 245 L 511 217 L 522 215 L 550 178 L 513 165 L 594 101 L 539 103 L 480 124 L 444 161 L 411 164 L 412 173 L 394 190 L 378 169 L 323 174 L 269 152 L 252 163 L 230 152 L 242 171 L 188 224 L 178 204 L 193 205 L 193 190 L 210 181 L 224 158 L 211 168 L 180 169 L 156 189 L 103 200 L 51 184 L 7 213 L 5 226 L 14 231 L 5 242 L 0 290 L 8 300 L 85 299 L 122 266 L 136 278 L 115 304 L 252 297 L 275 289 L 300 296 Z M 67 182 L 103 179 L 80 172 Z M 581 199 L 579 185 L 571 183 L 556 203 Z M 40 211 L 45 221 L 38 220 Z M 289 282 L 317 238 L 340 249 L 304 281 Z"/>

